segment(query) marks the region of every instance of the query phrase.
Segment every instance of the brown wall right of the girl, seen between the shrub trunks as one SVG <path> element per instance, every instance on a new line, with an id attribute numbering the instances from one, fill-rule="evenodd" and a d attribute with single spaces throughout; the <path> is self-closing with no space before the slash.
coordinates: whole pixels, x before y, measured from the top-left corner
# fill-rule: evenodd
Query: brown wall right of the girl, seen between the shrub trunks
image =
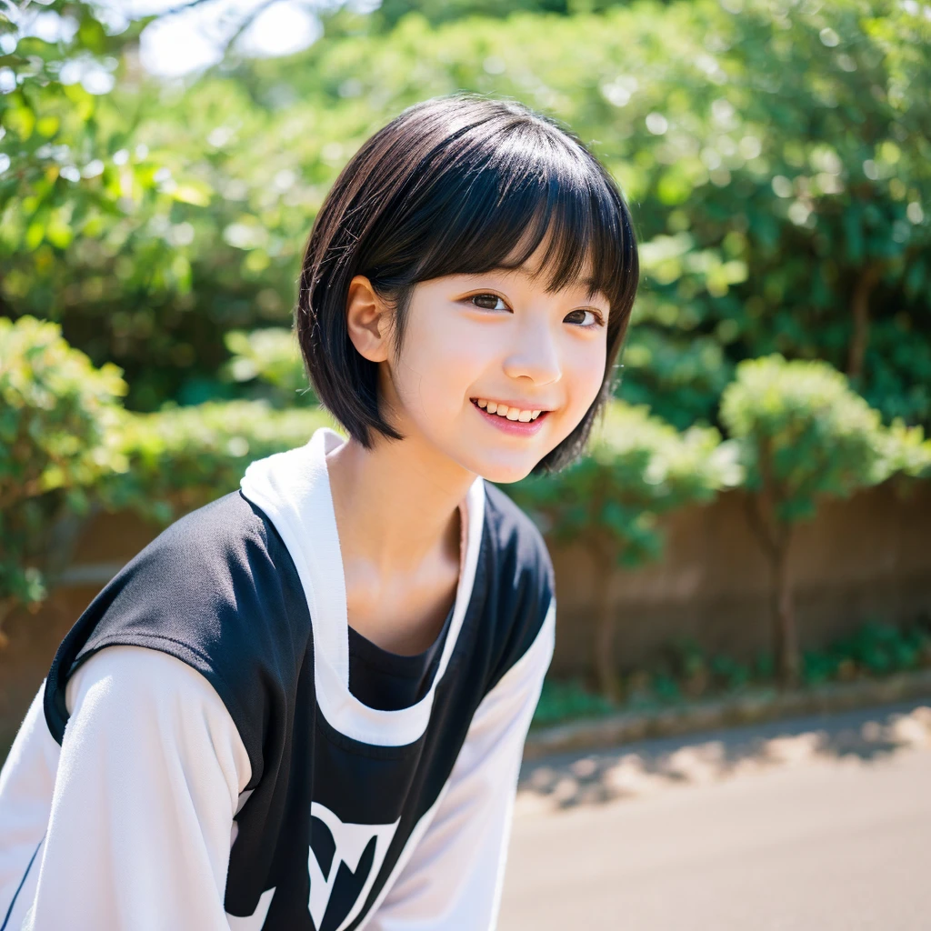
<path id="1" fill-rule="evenodd" d="M 662 562 L 612 579 L 619 668 L 649 662 L 672 637 L 749 659 L 769 644 L 769 573 L 750 532 L 743 492 L 666 520 Z M 588 667 L 594 575 L 582 547 L 553 551 L 559 613 L 552 671 Z M 826 502 L 798 527 L 791 573 L 803 648 L 864 620 L 908 623 L 931 612 L 931 485 L 904 497 L 893 485 Z"/>

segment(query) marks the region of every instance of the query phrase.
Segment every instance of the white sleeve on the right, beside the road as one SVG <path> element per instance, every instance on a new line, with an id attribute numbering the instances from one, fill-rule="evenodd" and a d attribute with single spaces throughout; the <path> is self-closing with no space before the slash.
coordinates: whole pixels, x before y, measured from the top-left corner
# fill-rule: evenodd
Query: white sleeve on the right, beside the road
<path id="1" fill-rule="evenodd" d="M 365 931 L 492 931 L 520 759 L 553 654 L 555 600 L 533 644 L 484 697 L 424 835 Z"/>

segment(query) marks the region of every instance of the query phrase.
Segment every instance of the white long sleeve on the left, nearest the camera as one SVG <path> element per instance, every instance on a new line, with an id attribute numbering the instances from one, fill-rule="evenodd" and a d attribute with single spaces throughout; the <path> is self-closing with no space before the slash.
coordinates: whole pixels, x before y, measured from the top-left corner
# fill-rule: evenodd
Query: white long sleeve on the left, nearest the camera
<path id="1" fill-rule="evenodd" d="M 24 931 L 229 931 L 231 830 L 250 762 L 220 696 L 173 656 L 109 646 L 68 681 L 66 704 Z"/>

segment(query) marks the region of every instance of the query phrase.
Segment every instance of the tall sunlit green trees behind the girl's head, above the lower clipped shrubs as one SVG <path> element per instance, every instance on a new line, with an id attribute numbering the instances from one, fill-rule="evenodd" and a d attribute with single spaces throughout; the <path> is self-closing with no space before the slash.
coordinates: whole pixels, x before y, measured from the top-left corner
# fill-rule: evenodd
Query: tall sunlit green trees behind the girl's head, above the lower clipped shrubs
<path id="1" fill-rule="evenodd" d="M 102 25 L 21 39 L 0 60 L 17 81 L 0 95 L 7 315 L 59 319 L 95 364 L 116 361 L 134 410 L 239 397 L 218 375 L 224 334 L 287 324 L 346 159 L 404 106 L 467 88 L 565 120 L 621 182 L 645 272 L 622 397 L 679 428 L 714 423 L 735 364 L 779 352 L 848 371 L 886 421 L 931 425 L 922 7 L 527 6 L 559 11 L 466 3 L 437 24 L 411 3 L 386 32 L 354 14 L 298 55 L 181 87 L 146 79 Z M 111 91 L 62 83 L 85 57 L 115 69 Z"/>

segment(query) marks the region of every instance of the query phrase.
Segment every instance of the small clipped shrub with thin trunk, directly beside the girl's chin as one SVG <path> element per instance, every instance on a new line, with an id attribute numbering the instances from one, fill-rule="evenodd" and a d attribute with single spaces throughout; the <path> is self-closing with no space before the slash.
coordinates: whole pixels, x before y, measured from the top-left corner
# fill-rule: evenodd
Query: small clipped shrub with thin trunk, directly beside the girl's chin
<path id="1" fill-rule="evenodd" d="M 587 453 L 559 473 L 523 479 L 506 492 L 555 543 L 585 546 L 595 566 L 592 668 L 602 695 L 618 696 L 611 582 L 618 566 L 662 553 L 658 517 L 708 501 L 738 474 L 713 428 L 680 434 L 645 407 L 609 403 Z"/>

